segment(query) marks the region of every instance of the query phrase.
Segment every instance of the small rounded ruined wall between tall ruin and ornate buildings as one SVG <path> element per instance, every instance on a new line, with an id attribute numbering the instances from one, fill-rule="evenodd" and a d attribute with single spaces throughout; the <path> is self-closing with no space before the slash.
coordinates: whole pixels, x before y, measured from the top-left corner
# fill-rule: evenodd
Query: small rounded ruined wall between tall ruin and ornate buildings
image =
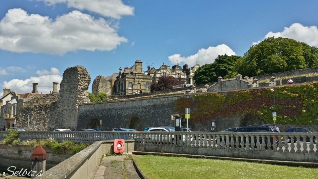
<path id="1" fill-rule="evenodd" d="M 92 84 L 92 93 L 97 96 L 98 92 L 104 92 L 107 96 L 112 95 L 112 85 L 105 76 L 97 76 Z"/>

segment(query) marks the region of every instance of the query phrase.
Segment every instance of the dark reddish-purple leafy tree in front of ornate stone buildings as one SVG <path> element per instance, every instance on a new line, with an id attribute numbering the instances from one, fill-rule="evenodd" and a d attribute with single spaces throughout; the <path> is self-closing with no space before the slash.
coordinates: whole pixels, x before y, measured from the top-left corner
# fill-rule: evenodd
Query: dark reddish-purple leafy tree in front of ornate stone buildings
<path id="1" fill-rule="evenodd" d="M 172 89 L 173 86 L 183 84 L 180 78 L 173 76 L 160 76 L 157 82 L 152 82 L 150 85 L 151 91 L 160 91 L 165 89 Z"/>

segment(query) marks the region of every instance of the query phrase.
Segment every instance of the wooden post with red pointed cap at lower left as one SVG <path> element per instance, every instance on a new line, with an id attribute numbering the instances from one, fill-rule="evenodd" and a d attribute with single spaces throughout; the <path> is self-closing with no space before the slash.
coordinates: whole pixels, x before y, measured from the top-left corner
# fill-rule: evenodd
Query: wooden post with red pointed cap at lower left
<path id="1" fill-rule="evenodd" d="M 38 145 L 38 147 L 33 151 L 31 154 L 31 160 L 31 170 L 37 172 L 36 176 L 43 175 L 45 172 L 46 152 L 41 145 Z M 32 175 L 31 178 L 35 178 L 36 176 Z"/>

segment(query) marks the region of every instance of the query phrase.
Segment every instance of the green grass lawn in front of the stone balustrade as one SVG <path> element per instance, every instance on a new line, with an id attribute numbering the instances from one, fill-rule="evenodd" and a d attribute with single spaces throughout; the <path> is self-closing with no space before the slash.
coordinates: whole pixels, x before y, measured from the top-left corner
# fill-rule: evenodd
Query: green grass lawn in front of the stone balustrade
<path id="1" fill-rule="evenodd" d="M 153 155 L 135 160 L 149 179 L 318 179 L 318 168 Z"/>

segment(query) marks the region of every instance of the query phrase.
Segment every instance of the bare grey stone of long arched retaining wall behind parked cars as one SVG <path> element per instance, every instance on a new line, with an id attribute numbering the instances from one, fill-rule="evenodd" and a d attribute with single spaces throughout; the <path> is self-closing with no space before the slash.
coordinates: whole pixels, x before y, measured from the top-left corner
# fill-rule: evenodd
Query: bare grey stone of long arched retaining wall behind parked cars
<path id="1" fill-rule="evenodd" d="M 256 88 L 253 90 L 262 90 Z M 246 89 L 245 89 L 246 90 Z M 252 90 L 252 89 L 251 89 Z M 269 90 L 269 89 L 268 89 Z M 232 91 L 220 92 L 227 95 Z M 176 100 L 180 98 L 194 98 L 196 94 L 181 94 L 160 97 L 145 97 L 139 99 L 118 100 L 112 102 L 91 103 L 79 105 L 78 129 L 88 128 L 93 121 L 102 120 L 102 130 L 109 131 L 116 127 L 134 128 L 142 131 L 145 127 L 174 126 L 174 121 L 170 115 L 178 114 L 176 110 Z M 271 97 L 270 97 L 271 98 Z M 272 98 L 271 98 L 272 99 Z M 271 101 L 270 99 L 270 101 Z M 184 100 L 186 101 L 186 100 Z M 193 101 L 193 100 L 192 100 Z M 252 103 L 252 102 L 250 102 Z M 184 107 L 190 106 L 183 104 Z M 238 106 L 240 108 L 240 106 Z M 208 109 L 206 109 L 208 110 Z M 184 114 L 180 113 L 184 118 Z M 222 131 L 231 127 L 240 127 L 251 124 L 269 124 L 261 120 L 257 115 L 253 116 L 248 112 L 241 112 L 234 115 L 224 114 L 211 118 L 208 121 L 195 123 L 189 120 L 189 127 L 197 131 L 210 131 L 211 120 L 216 121 L 216 131 Z M 182 125 L 186 126 L 186 121 L 182 120 Z M 297 124 L 277 124 L 281 131 L 290 127 L 305 127 L 312 132 L 318 132 L 318 125 L 297 125 Z"/>

